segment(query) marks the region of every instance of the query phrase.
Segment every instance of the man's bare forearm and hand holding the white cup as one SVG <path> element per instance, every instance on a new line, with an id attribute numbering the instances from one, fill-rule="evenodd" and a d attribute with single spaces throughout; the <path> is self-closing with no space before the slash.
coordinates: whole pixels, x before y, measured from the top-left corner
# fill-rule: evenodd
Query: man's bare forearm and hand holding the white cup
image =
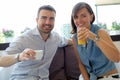
<path id="1" fill-rule="evenodd" d="M 17 62 L 34 60 L 36 52 L 32 49 L 25 49 L 23 52 L 14 55 L 1 55 L 0 67 L 9 67 Z"/>

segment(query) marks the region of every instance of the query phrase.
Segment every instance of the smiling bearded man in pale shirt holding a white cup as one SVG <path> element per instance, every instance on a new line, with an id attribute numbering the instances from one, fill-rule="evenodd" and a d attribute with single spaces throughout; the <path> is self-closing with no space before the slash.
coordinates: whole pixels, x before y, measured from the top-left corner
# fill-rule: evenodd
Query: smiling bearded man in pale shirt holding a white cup
<path id="1" fill-rule="evenodd" d="M 55 16 L 52 6 L 41 6 L 36 18 L 37 27 L 23 33 L 5 50 L 6 54 L 18 54 L 10 80 L 49 80 L 49 66 L 57 48 L 72 44 L 71 40 L 52 31 Z M 35 60 L 34 50 L 43 50 L 42 60 Z"/>

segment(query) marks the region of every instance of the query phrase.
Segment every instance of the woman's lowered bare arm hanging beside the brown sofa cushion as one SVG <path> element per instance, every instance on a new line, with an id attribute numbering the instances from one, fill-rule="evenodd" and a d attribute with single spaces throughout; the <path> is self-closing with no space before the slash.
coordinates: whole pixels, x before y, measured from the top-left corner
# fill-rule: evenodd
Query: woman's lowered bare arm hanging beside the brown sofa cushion
<path id="1" fill-rule="evenodd" d="M 82 63 L 80 57 L 79 57 L 80 55 L 79 55 L 77 47 L 76 47 L 76 42 L 75 42 L 74 38 L 72 38 L 72 39 L 73 39 L 73 47 L 74 47 L 74 51 L 75 51 L 75 56 L 76 56 L 77 61 L 79 63 L 79 69 L 81 71 L 81 74 L 82 74 L 84 80 L 89 80 L 89 74 L 88 74 L 84 64 Z"/>

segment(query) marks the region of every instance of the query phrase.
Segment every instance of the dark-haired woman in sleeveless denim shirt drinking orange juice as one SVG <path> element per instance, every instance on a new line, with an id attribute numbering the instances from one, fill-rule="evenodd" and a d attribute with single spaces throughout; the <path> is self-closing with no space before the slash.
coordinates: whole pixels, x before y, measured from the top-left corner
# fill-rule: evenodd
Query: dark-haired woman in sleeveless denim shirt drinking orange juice
<path id="1" fill-rule="evenodd" d="M 77 3 L 71 15 L 76 57 L 84 80 L 120 80 L 114 62 L 120 61 L 120 52 L 108 33 L 94 25 L 94 12 L 89 4 Z M 86 40 L 85 46 L 78 40 Z"/>

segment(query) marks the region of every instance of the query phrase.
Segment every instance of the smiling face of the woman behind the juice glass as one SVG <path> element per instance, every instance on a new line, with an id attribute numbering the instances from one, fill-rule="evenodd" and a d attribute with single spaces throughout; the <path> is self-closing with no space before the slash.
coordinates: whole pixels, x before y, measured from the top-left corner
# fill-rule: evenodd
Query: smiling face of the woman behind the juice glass
<path id="1" fill-rule="evenodd" d="M 86 8 L 79 10 L 75 17 L 73 17 L 74 23 L 77 27 L 86 27 L 90 29 L 93 14 L 91 15 Z"/>

